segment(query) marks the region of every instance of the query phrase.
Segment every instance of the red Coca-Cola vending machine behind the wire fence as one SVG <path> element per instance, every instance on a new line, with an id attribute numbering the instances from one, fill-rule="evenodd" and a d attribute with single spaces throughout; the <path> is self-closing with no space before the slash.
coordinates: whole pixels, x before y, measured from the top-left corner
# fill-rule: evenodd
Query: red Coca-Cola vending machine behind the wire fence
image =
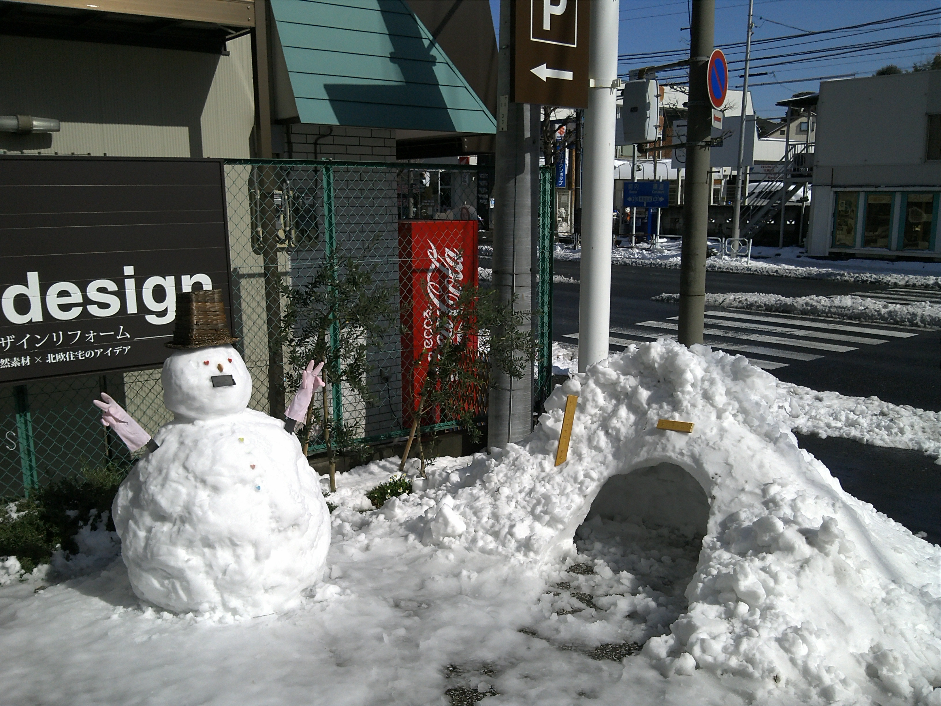
<path id="1" fill-rule="evenodd" d="M 442 308 L 455 304 L 466 284 L 477 285 L 476 220 L 399 221 L 399 292 L 402 320 L 402 412 L 406 424 L 418 406 Z M 431 412 L 423 424 L 438 422 Z"/>

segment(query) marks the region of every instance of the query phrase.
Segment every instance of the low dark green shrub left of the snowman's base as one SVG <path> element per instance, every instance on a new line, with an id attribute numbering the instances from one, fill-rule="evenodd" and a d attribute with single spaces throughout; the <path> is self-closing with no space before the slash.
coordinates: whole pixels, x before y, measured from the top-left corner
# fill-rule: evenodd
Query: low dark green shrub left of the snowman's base
<path id="1" fill-rule="evenodd" d="M 29 499 L 5 502 L 15 507 L 15 517 L 0 508 L 0 556 L 15 556 L 26 571 L 48 563 L 56 548 L 77 554 L 75 535 L 91 521 L 95 529 L 108 512 L 106 528 L 114 530 L 111 503 L 127 467 L 83 468 L 82 474 L 50 483 Z"/>

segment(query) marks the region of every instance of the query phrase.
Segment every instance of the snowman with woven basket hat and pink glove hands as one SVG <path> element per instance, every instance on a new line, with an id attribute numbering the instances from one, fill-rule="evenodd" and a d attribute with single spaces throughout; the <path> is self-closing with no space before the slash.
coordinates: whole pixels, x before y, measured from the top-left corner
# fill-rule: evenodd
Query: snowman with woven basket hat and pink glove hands
<path id="1" fill-rule="evenodd" d="M 147 453 L 112 517 L 136 595 L 177 613 L 290 610 L 321 577 L 327 503 L 293 431 L 324 383 L 313 361 L 286 422 L 247 409 L 251 377 L 218 290 L 184 293 L 164 362 L 174 419 L 150 435 L 107 394 L 102 423 Z"/>

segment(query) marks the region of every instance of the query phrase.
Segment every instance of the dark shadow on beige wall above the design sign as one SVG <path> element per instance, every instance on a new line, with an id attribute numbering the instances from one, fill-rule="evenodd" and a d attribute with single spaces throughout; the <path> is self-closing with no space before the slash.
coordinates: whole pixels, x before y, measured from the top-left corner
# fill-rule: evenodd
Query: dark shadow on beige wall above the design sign
<path id="1" fill-rule="evenodd" d="M 200 120 L 219 56 L 25 37 L 0 37 L 0 55 L 17 57 L 17 71 L 0 74 L 0 115 L 72 123 L 56 134 L 0 133 L 0 149 L 48 150 L 55 143 L 59 152 L 85 153 L 89 140 L 106 145 L 101 126 L 148 125 L 185 128 L 188 156 L 203 156 Z M 86 149 L 74 149 L 79 133 Z"/>

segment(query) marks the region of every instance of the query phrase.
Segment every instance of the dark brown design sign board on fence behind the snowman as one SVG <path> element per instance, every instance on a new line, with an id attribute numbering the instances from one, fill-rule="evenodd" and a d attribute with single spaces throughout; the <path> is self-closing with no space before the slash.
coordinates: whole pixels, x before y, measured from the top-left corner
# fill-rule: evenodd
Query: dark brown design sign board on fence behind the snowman
<path id="1" fill-rule="evenodd" d="M 221 160 L 0 156 L 0 384 L 158 367 L 229 273 Z"/>

